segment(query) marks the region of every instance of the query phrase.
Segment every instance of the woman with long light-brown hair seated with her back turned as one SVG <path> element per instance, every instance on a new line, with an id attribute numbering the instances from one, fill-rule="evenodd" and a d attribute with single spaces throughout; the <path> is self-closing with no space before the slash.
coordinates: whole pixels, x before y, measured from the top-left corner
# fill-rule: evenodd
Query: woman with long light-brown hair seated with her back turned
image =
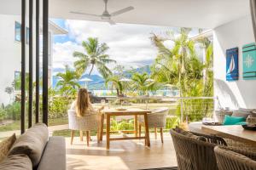
<path id="1" fill-rule="evenodd" d="M 76 111 L 77 116 L 84 116 L 96 112 L 93 106 L 90 103 L 89 93 L 86 88 L 80 88 L 77 99 L 73 101 L 71 110 Z M 104 106 L 102 106 L 98 111 L 102 111 Z"/>

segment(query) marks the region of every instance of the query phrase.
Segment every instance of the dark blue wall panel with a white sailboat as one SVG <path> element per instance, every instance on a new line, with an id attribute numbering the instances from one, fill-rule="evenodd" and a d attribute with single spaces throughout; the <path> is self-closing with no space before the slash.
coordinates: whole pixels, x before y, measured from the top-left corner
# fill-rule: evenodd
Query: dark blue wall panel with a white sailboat
<path id="1" fill-rule="evenodd" d="M 226 80 L 238 80 L 238 48 L 227 49 L 226 55 Z"/>

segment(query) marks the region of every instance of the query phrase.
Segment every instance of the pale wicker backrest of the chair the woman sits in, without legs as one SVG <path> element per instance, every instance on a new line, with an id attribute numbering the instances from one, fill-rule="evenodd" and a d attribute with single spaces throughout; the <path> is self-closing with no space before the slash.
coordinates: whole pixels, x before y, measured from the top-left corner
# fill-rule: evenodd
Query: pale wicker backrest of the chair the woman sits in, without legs
<path id="1" fill-rule="evenodd" d="M 99 117 L 95 112 L 84 116 L 77 116 L 76 111 L 68 110 L 68 127 L 72 130 L 96 130 Z"/>

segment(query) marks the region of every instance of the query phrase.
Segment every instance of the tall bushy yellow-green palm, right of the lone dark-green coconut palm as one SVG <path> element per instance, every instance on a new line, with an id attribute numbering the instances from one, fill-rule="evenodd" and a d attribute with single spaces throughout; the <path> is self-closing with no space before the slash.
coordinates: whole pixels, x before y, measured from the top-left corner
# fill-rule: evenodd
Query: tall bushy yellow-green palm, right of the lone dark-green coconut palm
<path id="1" fill-rule="evenodd" d="M 186 91 L 185 79 L 183 77 L 189 74 L 189 66 L 193 66 L 189 65 L 189 62 L 197 59 L 195 56 L 195 42 L 189 39 L 189 31 L 191 29 L 181 28 L 178 37 L 173 36 L 173 34 L 169 34 L 169 37 L 166 38 L 156 35 L 151 37 L 159 51 L 154 64 L 154 75 L 157 74 L 158 76 L 156 77 L 166 75 L 168 83 L 178 85 L 181 96 Z M 164 42 L 166 40 L 174 42 L 173 48 L 170 49 L 165 46 Z M 160 71 L 162 74 L 160 74 Z"/>

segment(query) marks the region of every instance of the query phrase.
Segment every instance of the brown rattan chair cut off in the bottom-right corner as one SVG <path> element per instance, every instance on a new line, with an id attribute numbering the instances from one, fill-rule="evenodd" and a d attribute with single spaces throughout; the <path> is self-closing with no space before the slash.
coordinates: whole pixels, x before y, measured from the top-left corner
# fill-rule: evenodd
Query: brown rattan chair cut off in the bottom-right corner
<path id="1" fill-rule="evenodd" d="M 230 147 L 214 148 L 219 170 L 255 170 L 256 153 Z"/>

